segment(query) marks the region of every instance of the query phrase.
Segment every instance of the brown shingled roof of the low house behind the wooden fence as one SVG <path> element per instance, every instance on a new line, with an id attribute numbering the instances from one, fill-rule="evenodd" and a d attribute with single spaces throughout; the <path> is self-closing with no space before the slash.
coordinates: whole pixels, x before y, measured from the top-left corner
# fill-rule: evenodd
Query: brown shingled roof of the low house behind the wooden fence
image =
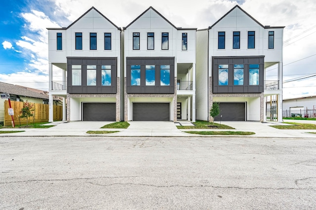
<path id="1" fill-rule="evenodd" d="M 0 82 L 0 93 L 8 93 L 10 95 L 26 96 L 48 100 L 47 91 L 42 91 L 20 85 L 8 84 L 4 82 Z"/>

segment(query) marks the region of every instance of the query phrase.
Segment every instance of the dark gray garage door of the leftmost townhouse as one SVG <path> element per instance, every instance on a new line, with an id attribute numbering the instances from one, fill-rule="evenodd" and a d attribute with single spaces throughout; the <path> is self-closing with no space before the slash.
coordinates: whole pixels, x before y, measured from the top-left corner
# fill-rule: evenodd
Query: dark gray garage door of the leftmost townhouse
<path id="1" fill-rule="evenodd" d="M 83 103 L 83 121 L 116 121 L 115 103 Z"/>

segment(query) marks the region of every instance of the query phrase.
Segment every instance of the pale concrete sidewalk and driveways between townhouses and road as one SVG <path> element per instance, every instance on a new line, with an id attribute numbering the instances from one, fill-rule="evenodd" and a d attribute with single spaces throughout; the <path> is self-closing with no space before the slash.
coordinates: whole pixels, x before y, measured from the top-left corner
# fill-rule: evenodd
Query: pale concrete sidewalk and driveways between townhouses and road
<path id="1" fill-rule="evenodd" d="M 307 122 L 306 122 L 307 121 Z M 298 123 L 316 124 L 316 121 L 297 120 Z M 222 124 L 231 126 L 232 130 L 211 130 L 211 129 L 177 129 L 173 122 L 161 121 L 130 121 L 127 129 L 101 129 L 102 126 L 113 122 L 91 122 L 91 121 L 75 121 L 63 122 L 57 121 L 45 125 L 55 125 L 47 129 L 23 129 L 23 128 L 6 128 L 1 131 L 23 130 L 25 132 L 0 134 L 1 136 L 18 136 L 18 137 L 39 137 L 39 136 L 113 136 L 113 137 L 223 137 L 219 135 L 205 136 L 185 133 L 185 131 L 243 131 L 254 132 L 255 135 L 242 136 L 246 137 L 267 137 L 267 138 L 314 138 L 315 134 L 307 132 L 316 132 L 316 130 L 280 130 L 270 125 L 288 125 L 278 122 L 222 122 Z M 291 126 L 291 125 L 288 125 Z M 87 131 L 119 131 L 112 134 L 87 134 Z M 224 136 L 229 137 L 229 136 Z M 236 137 L 236 136 L 234 136 Z"/>

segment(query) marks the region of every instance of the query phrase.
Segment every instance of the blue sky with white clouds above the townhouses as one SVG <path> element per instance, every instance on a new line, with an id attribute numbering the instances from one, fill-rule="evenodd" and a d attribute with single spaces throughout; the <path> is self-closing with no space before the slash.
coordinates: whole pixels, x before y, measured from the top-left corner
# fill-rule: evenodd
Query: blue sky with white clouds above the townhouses
<path id="1" fill-rule="evenodd" d="M 5 0 L 0 7 L 0 81 L 48 90 L 46 28 L 67 27 L 91 6 L 119 27 L 153 6 L 177 27 L 204 29 L 236 4 L 263 25 L 285 26 L 283 81 L 316 73 L 315 0 Z M 275 79 L 271 68 L 267 80 Z M 315 84 L 316 77 L 284 83 L 283 98 L 316 95 Z"/>

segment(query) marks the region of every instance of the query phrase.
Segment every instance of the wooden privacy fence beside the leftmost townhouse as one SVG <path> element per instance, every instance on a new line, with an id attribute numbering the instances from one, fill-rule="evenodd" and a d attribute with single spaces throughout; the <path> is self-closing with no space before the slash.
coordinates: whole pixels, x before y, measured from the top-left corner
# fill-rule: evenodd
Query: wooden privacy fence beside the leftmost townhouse
<path id="1" fill-rule="evenodd" d="M 34 122 L 48 122 L 48 114 L 49 114 L 49 105 L 30 103 L 33 105 L 33 109 L 35 109 L 34 116 L 29 117 L 29 123 Z M 21 116 L 21 109 L 23 107 L 23 102 L 15 102 L 11 101 L 11 106 L 14 111 L 14 123 L 15 125 L 19 125 L 19 116 Z M 4 125 L 11 125 L 11 116 L 8 113 L 9 102 L 4 101 Z M 63 106 L 53 105 L 53 120 L 58 121 L 63 119 Z M 21 124 L 26 124 L 26 118 L 20 118 Z"/>

